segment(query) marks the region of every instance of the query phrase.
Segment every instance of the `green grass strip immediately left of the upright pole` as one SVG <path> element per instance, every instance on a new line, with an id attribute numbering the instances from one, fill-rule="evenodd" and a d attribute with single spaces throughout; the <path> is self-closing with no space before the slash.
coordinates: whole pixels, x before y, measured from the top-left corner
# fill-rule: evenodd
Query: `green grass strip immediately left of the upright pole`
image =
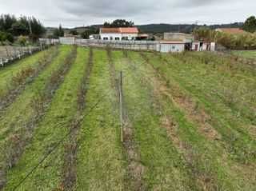
<path id="1" fill-rule="evenodd" d="M 106 51 L 94 50 L 94 68 L 86 95 L 86 115 L 79 136 L 75 190 L 122 190 L 124 161 L 114 89 Z M 98 101 L 99 104 L 91 110 Z"/>

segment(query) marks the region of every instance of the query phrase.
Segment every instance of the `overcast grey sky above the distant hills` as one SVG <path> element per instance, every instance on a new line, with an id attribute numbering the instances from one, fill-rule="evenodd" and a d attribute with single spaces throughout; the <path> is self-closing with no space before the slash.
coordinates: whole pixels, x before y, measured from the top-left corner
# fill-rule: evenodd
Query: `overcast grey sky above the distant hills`
<path id="1" fill-rule="evenodd" d="M 45 26 L 88 26 L 115 18 L 135 24 L 243 22 L 255 0 L 0 0 L 1 14 L 33 15 Z"/>

